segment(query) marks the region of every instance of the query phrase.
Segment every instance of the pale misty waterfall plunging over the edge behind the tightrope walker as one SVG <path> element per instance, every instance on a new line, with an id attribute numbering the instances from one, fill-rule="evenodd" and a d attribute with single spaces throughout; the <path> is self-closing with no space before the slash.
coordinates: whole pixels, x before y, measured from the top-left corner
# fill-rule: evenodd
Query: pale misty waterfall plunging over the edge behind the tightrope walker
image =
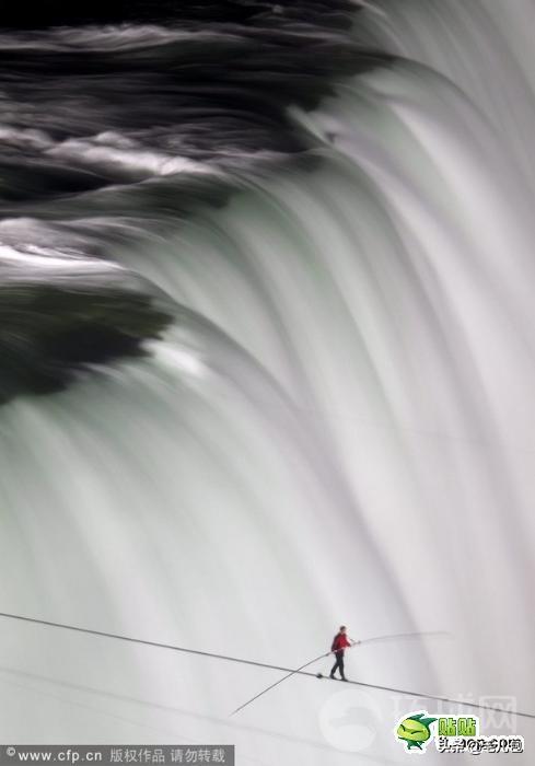
<path id="1" fill-rule="evenodd" d="M 348 675 L 535 710 L 534 12 L 375 3 L 418 63 L 295 113 L 321 171 L 116 246 L 190 311 L 155 360 L 3 409 L 1 611 L 288 666 L 340 623 L 447 629 L 351 650 Z M 353 690 L 354 754 L 322 733 L 328 682 L 229 718 L 277 673 L 8 622 L 0 641 L 2 742 L 402 763 L 398 716 L 437 709 Z"/>

